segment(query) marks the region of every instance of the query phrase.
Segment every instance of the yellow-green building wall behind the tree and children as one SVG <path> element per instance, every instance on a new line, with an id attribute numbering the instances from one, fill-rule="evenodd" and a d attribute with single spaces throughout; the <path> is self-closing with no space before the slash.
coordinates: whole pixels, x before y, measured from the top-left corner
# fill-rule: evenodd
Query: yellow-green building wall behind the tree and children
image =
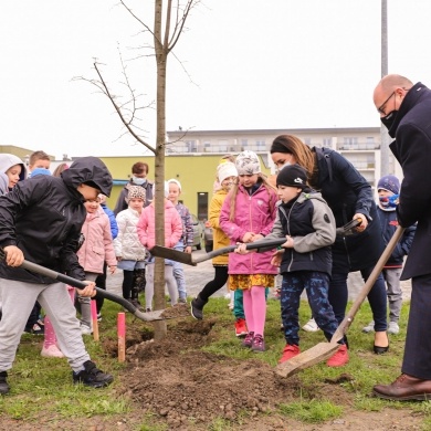
<path id="1" fill-rule="evenodd" d="M 216 169 L 220 155 L 176 155 L 166 156 L 165 179 L 175 178 L 181 182 L 180 199 L 191 213 L 198 213 L 198 193 L 208 192 L 209 201 L 212 197 L 212 187 L 216 179 Z M 114 179 L 129 179 L 132 166 L 137 161 L 145 161 L 149 166 L 148 179 L 154 180 L 154 157 L 102 157 Z M 262 171 L 270 174 L 261 162 Z M 114 209 L 118 195 L 124 186 L 114 186 L 107 204 Z"/>

